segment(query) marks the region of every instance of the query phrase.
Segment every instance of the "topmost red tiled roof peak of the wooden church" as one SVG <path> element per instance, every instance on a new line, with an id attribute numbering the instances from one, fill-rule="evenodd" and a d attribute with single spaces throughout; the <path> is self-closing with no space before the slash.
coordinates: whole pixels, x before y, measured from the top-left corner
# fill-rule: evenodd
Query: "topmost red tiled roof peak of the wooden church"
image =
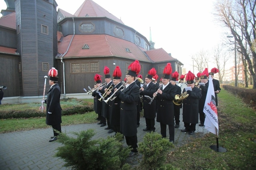
<path id="1" fill-rule="evenodd" d="M 89 15 L 89 17 L 107 17 L 123 24 L 120 19 L 109 13 L 107 10 L 105 10 L 92 0 L 85 0 L 74 15 L 78 17 L 85 17 L 87 14 Z"/>

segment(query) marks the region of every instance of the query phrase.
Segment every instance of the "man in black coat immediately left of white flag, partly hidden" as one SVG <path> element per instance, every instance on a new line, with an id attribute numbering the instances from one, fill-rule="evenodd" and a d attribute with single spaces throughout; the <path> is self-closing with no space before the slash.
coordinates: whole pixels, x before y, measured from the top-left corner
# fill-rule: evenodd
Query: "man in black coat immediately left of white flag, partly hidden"
<path id="1" fill-rule="evenodd" d="M 203 112 L 205 100 L 206 100 L 206 95 L 208 91 L 208 86 L 209 86 L 209 81 L 208 77 L 206 75 L 201 76 L 201 83 L 204 83 L 205 86 L 201 85 L 199 88 L 201 89 L 202 92 L 202 97 L 199 100 L 199 118 L 200 118 L 200 125 L 199 126 L 204 126 L 204 121 L 205 121 L 205 113 Z"/>

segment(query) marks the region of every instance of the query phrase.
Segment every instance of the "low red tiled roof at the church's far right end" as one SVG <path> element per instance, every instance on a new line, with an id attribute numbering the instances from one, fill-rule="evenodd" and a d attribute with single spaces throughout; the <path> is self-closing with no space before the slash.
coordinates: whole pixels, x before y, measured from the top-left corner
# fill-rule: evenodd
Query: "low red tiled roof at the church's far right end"
<path id="1" fill-rule="evenodd" d="M 169 54 L 166 51 L 164 51 L 163 48 L 158 48 L 158 49 L 149 50 L 145 52 L 148 55 L 148 57 L 154 62 L 176 60 L 175 58 L 169 56 Z"/>

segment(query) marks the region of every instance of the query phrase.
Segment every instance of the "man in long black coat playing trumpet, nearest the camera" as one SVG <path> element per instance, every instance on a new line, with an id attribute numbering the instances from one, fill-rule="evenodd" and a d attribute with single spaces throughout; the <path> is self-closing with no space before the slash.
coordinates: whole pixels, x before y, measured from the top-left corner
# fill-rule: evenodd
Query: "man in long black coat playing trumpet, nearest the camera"
<path id="1" fill-rule="evenodd" d="M 133 64 L 133 63 L 132 63 Z M 140 68 L 139 68 L 140 69 Z M 116 92 L 120 98 L 120 131 L 126 139 L 126 144 L 132 148 L 129 156 L 132 157 L 138 151 L 137 139 L 137 103 L 139 100 L 139 86 L 135 83 L 136 71 L 126 72 L 126 87 L 121 92 Z"/>

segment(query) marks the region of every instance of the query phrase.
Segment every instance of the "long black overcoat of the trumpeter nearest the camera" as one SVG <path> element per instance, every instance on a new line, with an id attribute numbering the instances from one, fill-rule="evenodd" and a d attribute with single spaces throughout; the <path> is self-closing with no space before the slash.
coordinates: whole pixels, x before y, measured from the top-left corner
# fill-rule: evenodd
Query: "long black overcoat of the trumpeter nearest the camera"
<path id="1" fill-rule="evenodd" d="M 139 89 L 140 87 L 133 82 L 122 92 L 116 93 L 121 99 L 120 131 L 124 136 L 135 136 L 137 134 L 137 101 L 139 100 Z"/>

